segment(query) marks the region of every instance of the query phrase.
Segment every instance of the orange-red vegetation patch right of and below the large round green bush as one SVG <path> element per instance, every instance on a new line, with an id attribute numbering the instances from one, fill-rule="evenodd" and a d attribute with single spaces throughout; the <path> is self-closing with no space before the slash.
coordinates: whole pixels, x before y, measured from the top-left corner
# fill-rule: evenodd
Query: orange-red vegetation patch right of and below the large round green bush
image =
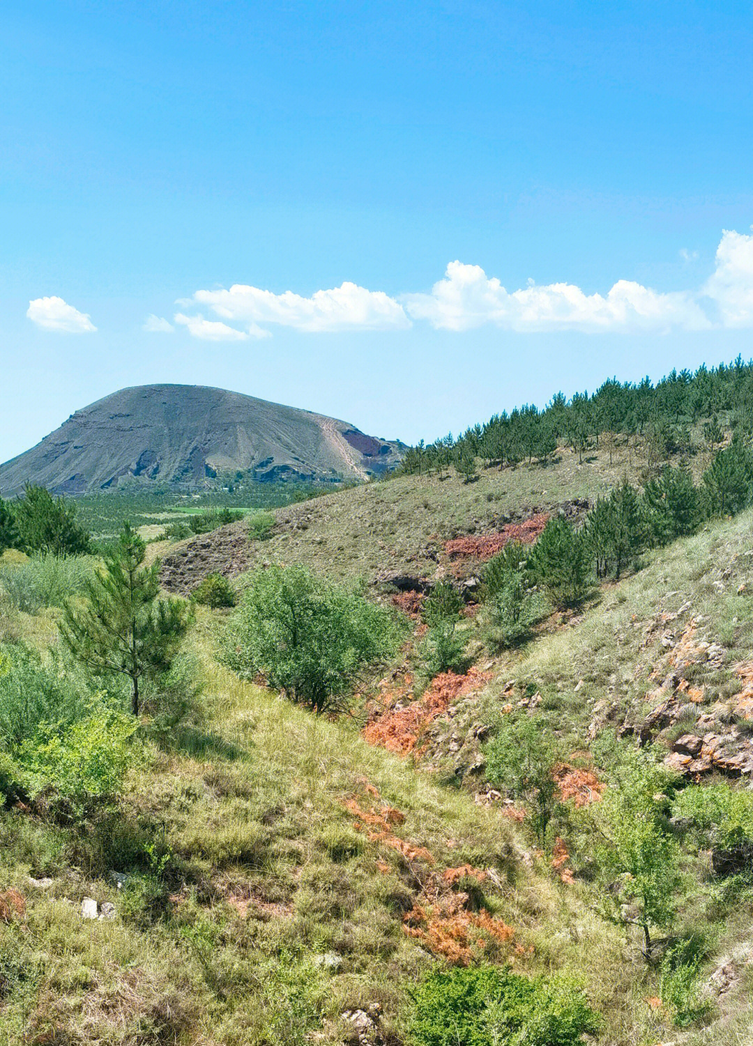
<path id="1" fill-rule="evenodd" d="M 385 711 L 365 727 L 363 735 L 370 745 L 409 755 L 433 720 L 443 715 L 456 698 L 478 689 L 489 678 L 488 673 L 473 667 L 464 676 L 443 672 L 434 677 L 423 697 L 400 708 L 393 706 L 407 698 L 407 687 L 397 688 L 385 695 Z"/>

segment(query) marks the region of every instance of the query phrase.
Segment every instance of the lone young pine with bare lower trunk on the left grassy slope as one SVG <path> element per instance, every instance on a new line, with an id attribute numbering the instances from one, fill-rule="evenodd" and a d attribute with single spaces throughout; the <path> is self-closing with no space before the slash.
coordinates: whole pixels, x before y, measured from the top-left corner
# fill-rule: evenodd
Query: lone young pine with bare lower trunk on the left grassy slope
<path id="1" fill-rule="evenodd" d="M 59 628 L 63 641 L 97 675 L 131 680 L 131 710 L 139 713 L 139 680 L 165 672 L 178 653 L 190 611 L 182 599 L 159 599 L 159 563 L 144 567 L 146 546 L 123 525 L 104 567 L 79 600 L 69 600 Z"/>

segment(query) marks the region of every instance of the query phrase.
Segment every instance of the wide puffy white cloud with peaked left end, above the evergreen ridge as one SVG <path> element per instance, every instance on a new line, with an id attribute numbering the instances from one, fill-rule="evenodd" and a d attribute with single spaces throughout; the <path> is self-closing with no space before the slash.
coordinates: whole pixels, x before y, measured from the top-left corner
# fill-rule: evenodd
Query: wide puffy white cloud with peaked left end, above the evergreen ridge
<path id="1" fill-rule="evenodd" d="M 620 279 L 607 293 L 586 294 L 572 283 L 529 283 L 508 292 L 480 266 L 451 262 L 431 294 L 404 299 L 413 319 L 435 327 L 467 331 L 494 323 L 510 331 L 647 331 L 709 326 L 703 310 L 685 292 L 660 294 Z"/>

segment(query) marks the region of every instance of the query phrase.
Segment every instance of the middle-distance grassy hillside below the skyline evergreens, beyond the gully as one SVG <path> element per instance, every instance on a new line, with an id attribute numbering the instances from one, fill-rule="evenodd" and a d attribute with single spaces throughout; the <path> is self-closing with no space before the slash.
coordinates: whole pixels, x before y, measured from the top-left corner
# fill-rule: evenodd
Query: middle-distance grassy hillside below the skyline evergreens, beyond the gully
<path id="1" fill-rule="evenodd" d="M 707 458 L 699 454 L 700 471 Z M 409 574 L 433 577 L 446 565 L 444 541 L 458 535 L 495 529 L 508 519 L 525 518 L 537 510 L 556 509 L 574 500 L 593 501 L 621 479 L 636 482 L 644 462 L 625 448 L 610 454 L 592 449 L 588 457 L 561 448 L 548 464 L 521 464 L 517 469 L 482 469 L 466 483 L 454 470 L 443 478 L 396 476 L 334 493 L 310 502 L 277 509 L 277 527 L 269 541 L 250 543 L 244 524 L 226 528 L 213 545 L 188 545 L 176 563 L 178 590 L 190 589 L 202 571 L 231 573 L 280 560 L 305 563 L 337 576 L 376 577 Z M 220 546 L 224 545 L 225 548 Z"/>

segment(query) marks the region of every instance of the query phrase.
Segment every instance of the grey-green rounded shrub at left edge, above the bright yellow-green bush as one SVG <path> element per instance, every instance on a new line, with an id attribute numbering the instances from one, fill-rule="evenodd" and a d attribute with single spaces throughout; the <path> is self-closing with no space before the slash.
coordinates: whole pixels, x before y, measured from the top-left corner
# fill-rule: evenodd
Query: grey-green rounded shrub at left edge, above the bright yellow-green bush
<path id="1" fill-rule="evenodd" d="M 92 693 L 60 658 L 23 645 L 0 650 L 0 749 L 14 751 L 43 723 L 69 726 L 90 714 Z"/>

